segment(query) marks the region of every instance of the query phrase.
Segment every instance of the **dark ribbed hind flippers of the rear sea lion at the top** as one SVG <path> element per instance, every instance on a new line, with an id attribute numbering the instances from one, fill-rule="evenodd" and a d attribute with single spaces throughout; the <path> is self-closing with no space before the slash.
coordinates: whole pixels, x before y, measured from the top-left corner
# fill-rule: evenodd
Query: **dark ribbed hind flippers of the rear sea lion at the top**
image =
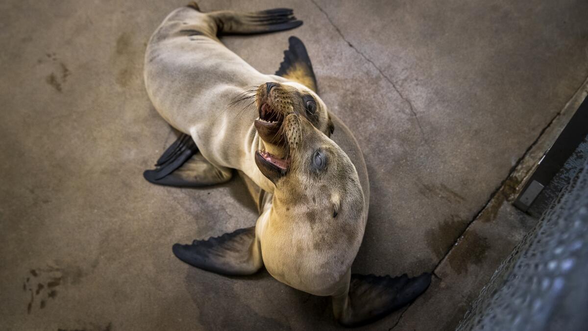
<path id="1" fill-rule="evenodd" d="M 188 5 L 201 12 L 196 2 Z M 289 8 L 274 8 L 258 12 L 216 11 L 206 13 L 217 27 L 217 35 L 266 34 L 298 28 L 302 21 L 296 19 Z"/>

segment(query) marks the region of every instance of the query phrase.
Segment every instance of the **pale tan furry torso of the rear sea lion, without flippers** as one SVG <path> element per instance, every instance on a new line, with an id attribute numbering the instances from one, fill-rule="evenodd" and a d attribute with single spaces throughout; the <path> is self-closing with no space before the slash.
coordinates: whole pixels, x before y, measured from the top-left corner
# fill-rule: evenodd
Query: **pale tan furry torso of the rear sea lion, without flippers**
<path id="1" fill-rule="evenodd" d="M 323 132 L 327 132 L 327 109 L 307 87 L 276 75 L 265 75 L 251 67 L 216 38 L 216 15 L 193 8 L 179 8 L 165 18 L 153 33 L 145 53 L 145 87 L 155 109 L 173 127 L 192 135 L 211 164 L 223 171 L 243 171 L 263 190 L 273 184 L 255 166 L 253 155 L 272 146 L 263 143 L 253 127 L 255 107 L 245 102 L 229 104 L 248 87 L 280 82 L 300 92 L 311 93 L 320 106 Z M 188 32 L 186 32 L 188 31 Z M 191 31 L 198 32 L 194 34 Z"/>

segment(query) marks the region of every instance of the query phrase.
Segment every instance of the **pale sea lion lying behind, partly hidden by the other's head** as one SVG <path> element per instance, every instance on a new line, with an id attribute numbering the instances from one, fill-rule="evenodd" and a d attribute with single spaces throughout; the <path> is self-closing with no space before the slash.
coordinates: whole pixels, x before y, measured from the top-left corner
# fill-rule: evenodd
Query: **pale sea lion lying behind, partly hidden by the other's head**
<path id="1" fill-rule="evenodd" d="M 192 139 L 180 137 L 158 160 L 158 168 L 145 172 L 145 178 L 155 184 L 203 186 L 228 181 L 231 169 L 237 169 L 272 192 L 273 184 L 260 173 L 253 155 L 262 148 L 280 156 L 284 151 L 260 140 L 253 125 L 258 114 L 246 111 L 251 107 L 242 111 L 239 102 L 248 101 L 256 93 L 256 100 L 264 98 L 266 104 L 259 104 L 259 117 L 275 124 L 281 124 L 282 111 L 302 110 L 312 104 L 313 124 L 329 133 L 332 125 L 327 107 L 315 91 L 288 79 L 288 73 L 283 74 L 285 77 L 261 74 L 226 48 L 217 35 L 280 31 L 302 22 L 292 16 L 291 9 L 205 14 L 194 6 L 176 9 L 156 29 L 146 49 L 144 69 L 145 87 L 155 109 Z M 293 68 L 293 75 L 312 72 L 310 64 L 305 63 L 302 42 L 293 39 L 290 45 L 288 54 L 294 61 L 283 67 Z M 316 89 L 313 74 L 305 77 L 312 77 L 306 82 Z M 273 84 L 280 85 L 280 92 L 266 97 Z M 302 95 L 306 103 L 300 104 L 293 95 Z M 235 103 L 237 107 L 228 106 Z M 271 123 L 258 126 L 265 127 L 268 134 L 274 128 Z"/>

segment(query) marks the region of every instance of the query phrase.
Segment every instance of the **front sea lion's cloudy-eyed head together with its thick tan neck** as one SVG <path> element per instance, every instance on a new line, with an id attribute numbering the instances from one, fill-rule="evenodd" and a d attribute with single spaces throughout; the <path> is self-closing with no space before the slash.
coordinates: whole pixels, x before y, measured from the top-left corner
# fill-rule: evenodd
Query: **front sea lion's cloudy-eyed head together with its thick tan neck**
<path id="1" fill-rule="evenodd" d="M 287 153 L 257 151 L 255 163 L 275 184 L 262 227 L 266 269 L 280 282 L 330 295 L 348 272 L 365 229 L 364 196 L 348 155 L 306 117 L 283 120 Z M 288 254 L 287 258 L 285 252 Z"/>

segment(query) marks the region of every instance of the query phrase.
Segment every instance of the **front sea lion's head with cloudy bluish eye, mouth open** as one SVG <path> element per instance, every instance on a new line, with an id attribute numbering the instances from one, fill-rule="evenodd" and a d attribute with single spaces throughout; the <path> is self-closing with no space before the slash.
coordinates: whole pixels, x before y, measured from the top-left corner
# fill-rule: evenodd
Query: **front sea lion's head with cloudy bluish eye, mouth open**
<path id="1" fill-rule="evenodd" d="M 303 219 L 310 206 L 318 206 L 312 221 L 358 221 L 363 193 L 348 155 L 306 116 L 289 114 L 282 126 L 286 155 L 255 154 L 259 170 L 276 186 L 274 208 L 288 208 L 289 217 Z"/>

